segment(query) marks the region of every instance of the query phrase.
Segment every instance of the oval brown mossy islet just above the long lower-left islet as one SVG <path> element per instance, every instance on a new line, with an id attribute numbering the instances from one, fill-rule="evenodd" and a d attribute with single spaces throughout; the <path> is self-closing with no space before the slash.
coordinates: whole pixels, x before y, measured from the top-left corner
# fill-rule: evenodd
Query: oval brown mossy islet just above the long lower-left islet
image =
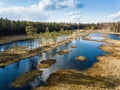
<path id="1" fill-rule="evenodd" d="M 51 65 L 55 64 L 56 60 L 54 59 L 47 59 L 41 61 L 41 64 L 38 65 L 38 68 L 49 68 Z"/>

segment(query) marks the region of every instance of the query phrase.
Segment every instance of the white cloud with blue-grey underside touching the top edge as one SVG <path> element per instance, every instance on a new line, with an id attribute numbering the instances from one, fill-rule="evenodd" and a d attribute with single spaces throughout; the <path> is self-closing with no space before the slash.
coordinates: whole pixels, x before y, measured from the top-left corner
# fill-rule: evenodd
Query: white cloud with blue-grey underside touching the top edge
<path id="1" fill-rule="evenodd" d="M 45 10 L 57 10 L 64 8 L 83 8 L 84 5 L 79 0 L 41 0 L 38 6 Z"/>

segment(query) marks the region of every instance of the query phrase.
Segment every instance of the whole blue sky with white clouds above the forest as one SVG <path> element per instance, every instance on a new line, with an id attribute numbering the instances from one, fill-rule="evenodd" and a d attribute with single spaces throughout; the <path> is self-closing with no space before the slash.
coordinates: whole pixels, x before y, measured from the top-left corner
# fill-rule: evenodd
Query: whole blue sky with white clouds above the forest
<path id="1" fill-rule="evenodd" d="M 0 17 L 35 22 L 118 22 L 120 0 L 0 0 Z"/>

